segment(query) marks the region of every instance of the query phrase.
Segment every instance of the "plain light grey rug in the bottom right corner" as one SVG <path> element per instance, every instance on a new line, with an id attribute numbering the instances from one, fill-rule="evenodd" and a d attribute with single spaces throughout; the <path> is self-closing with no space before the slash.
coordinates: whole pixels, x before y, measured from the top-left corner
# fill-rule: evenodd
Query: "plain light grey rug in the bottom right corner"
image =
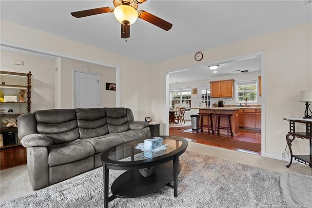
<path id="1" fill-rule="evenodd" d="M 283 172 L 280 186 L 289 207 L 312 207 L 312 176 Z"/>

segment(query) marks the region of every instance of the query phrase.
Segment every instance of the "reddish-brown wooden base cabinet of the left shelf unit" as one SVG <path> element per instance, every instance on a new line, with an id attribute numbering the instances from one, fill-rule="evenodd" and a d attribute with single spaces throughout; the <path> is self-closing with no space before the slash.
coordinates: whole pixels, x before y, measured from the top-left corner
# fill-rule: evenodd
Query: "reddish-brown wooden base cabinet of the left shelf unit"
<path id="1" fill-rule="evenodd" d="M 25 147 L 17 146 L 0 149 L 0 170 L 25 165 L 26 163 L 27 160 Z"/>

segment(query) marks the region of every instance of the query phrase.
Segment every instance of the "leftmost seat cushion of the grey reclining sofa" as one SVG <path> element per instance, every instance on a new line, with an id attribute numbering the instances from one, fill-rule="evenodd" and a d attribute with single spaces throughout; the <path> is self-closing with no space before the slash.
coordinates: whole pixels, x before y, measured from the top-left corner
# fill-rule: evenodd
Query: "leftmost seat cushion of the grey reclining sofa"
<path id="1" fill-rule="evenodd" d="M 49 148 L 49 166 L 72 163 L 94 155 L 93 146 L 87 141 L 77 139 L 72 142 L 53 145 Z"/>

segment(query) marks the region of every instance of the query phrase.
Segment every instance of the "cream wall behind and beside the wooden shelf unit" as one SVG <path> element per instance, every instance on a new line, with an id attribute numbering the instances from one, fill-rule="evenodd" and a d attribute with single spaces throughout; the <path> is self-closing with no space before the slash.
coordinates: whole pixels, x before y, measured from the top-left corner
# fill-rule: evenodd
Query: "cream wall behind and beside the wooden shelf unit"
<path id="1" fill-rule="evenodd" d="M 13 62 L 15 59 L 23 61 L 24 65 L 14 65 Z M 28 71 L 31 71 L 31 112 L 54 108 L 53 60 L 22 53 L 1 51 L 0 65 L 2 71 L 20 73 L 28 73 Z M 4 105 L 1 106 L 1 109 L 4 108 L 6 108 Z"/>

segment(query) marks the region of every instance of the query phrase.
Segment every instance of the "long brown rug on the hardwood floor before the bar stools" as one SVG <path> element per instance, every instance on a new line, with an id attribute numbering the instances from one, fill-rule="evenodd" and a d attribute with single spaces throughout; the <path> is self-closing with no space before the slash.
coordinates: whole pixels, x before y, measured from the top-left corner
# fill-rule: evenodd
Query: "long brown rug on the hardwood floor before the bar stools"
<path id="1" fill-rule="evenodd" d="M 260 152 L 261 151 L 261 144 L 257 143 L 252 143 L 252 142 L 244 142 L 244 141 L 239 141 L 239 140 L 233 140 L 233 139 L 228 139 L 228 138 L 220 138 L 220 137 L 215 137 L 212 135 L 208 134 L 194 134 L 194 133 L 188 133 L 185 131 L 179 131 L 179 130 L 169 130 L 169 134 L 172 136 L 179 136 L 179 137 L 184 137 L 188 139 L 194 139 L 194 140 L 202 140 L 205 142 L 205 144 L 214 144 L 218 145 L 221 147 L 233 147 L 233 148 L 238 148 L 238 149 L 245 149 L 253 152 Z"/>

